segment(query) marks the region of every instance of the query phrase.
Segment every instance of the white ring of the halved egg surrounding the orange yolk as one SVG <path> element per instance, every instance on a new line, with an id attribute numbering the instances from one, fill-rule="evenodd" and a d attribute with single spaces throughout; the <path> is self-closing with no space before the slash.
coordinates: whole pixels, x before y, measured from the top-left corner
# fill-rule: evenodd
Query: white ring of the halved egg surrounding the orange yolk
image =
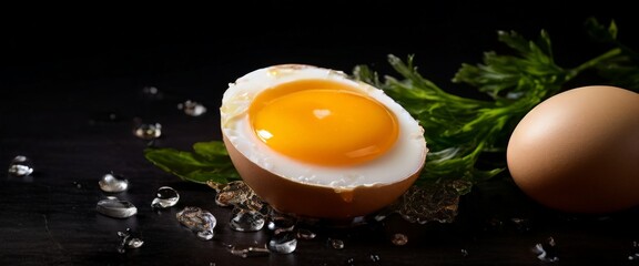
<path id="1" fill-rule="evenodd" d="M 262 91 L 305 79 L 345 83 L 383 103 L 397 117 L 399 134 L 396 143 L 375 160 L 347 166 L 305 163 L 271 150 L 254 134 L 248 108 Z M 395 183 L 420 171 L 428 152 L 424 129 L 383 90 L 348 79 L 342 71 L 314 65 L 281 64 L 245 74 L 229 84 L 220 114 L 222 133 L 243 156 L 271 173 L 300 183 L 346 190 Z"/>

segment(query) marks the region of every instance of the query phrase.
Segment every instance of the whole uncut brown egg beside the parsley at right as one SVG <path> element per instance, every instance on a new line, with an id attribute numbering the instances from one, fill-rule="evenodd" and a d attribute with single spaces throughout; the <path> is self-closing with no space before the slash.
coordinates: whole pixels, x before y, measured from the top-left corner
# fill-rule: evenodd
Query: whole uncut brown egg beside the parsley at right
<path id="1" fill-rule="evenodd" d="M 508 171 L 532 200 L 601 214 L 639 205 L 639 94 L 589 85 L 539 103 L 515 127 Z"/>

